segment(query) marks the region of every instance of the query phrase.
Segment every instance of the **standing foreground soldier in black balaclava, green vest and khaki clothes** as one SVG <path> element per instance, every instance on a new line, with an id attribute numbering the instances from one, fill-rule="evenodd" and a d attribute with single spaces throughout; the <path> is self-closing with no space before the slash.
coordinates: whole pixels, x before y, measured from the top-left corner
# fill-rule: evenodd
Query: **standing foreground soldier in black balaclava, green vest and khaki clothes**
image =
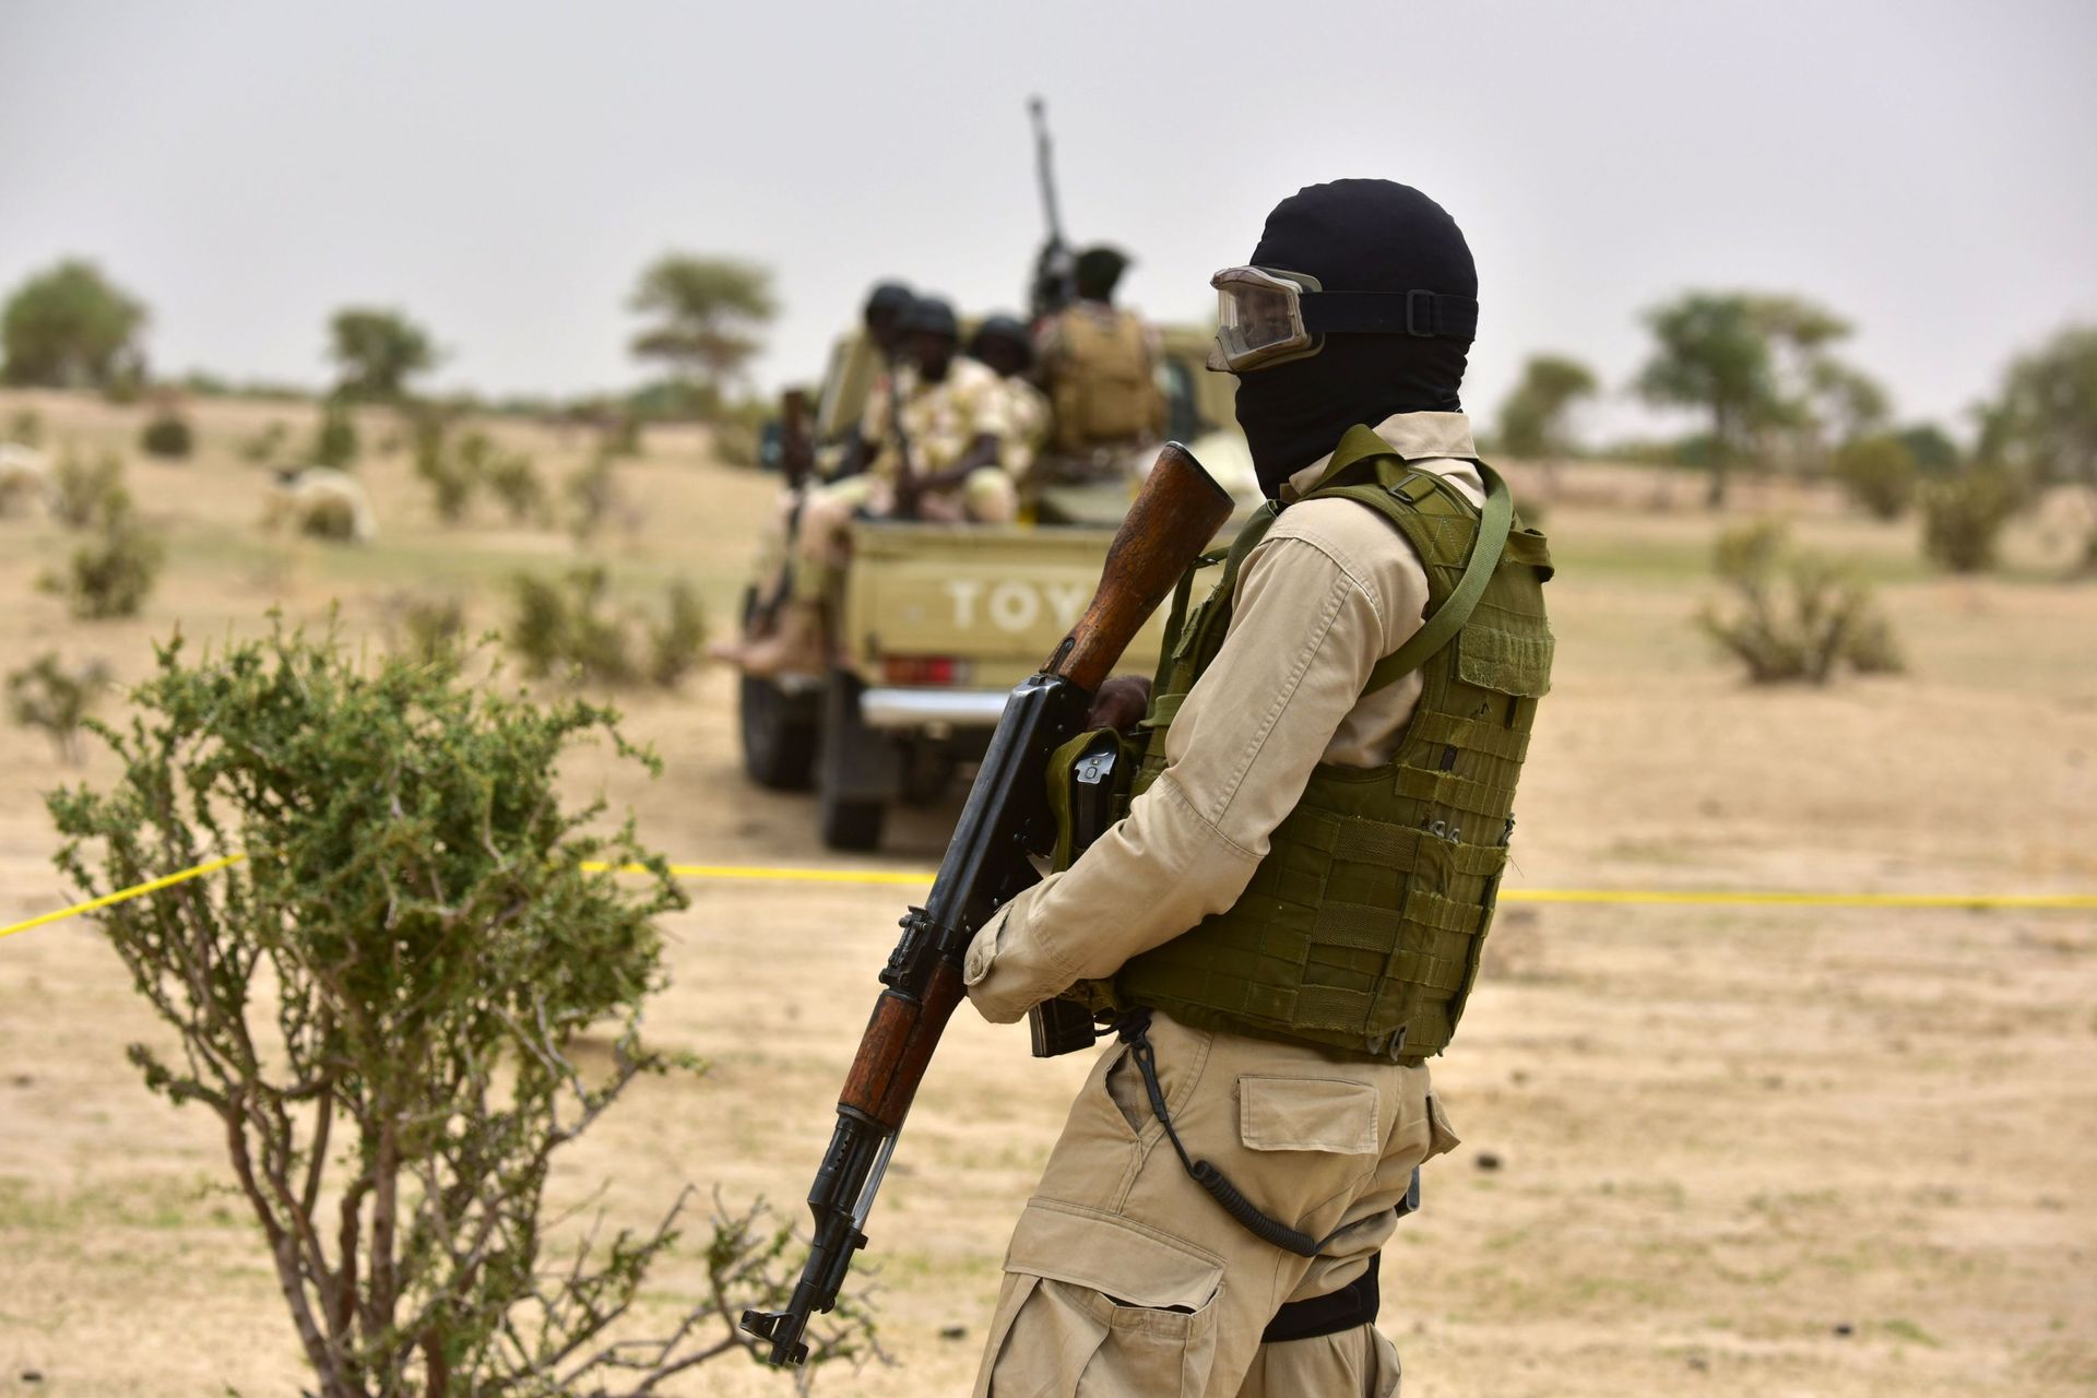
<path id="1" fill-rule="evenodd" d="M 1269 507 L 1166 637 L 1126 817 L 990 920 L 965 981 L 1116 1042 L 1019 1218 L 975 1392 L 1376 1396 L 1378 1249 L 1455 1144 L 1428 1082 L 1478 970 L 1552 635 L 1541 534 L 1457 398 L 1455 222 L 1386 180 L 1283 199 L 1210 361 Z M 1126 763 L 1124 763 L 1126 767 Z"/>

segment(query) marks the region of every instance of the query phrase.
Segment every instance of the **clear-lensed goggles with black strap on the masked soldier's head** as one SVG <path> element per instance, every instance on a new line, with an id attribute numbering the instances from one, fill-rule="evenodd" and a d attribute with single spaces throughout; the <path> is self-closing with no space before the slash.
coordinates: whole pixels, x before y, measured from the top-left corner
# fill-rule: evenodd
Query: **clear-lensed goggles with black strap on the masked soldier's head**
<path id="1" fill-rule="evenodd" d="M 1439 291 L 1325 291 L 1309 272 L 1269 266 L 1227 266 L 1208 279 L 1216 287 L 1216 346 L 1208 367 L 1244 373 L 1306 358 L 1327 333 L 1449 335 L 1470 340 L 1478 302 Z"/>

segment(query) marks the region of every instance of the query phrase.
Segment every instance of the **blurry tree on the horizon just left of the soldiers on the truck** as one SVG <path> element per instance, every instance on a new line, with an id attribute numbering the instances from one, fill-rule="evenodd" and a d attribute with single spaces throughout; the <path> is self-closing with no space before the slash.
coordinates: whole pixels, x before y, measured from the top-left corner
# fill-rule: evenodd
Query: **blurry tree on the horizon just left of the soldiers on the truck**
<path id="1" fill-rule="evenodd" d="M 633 352 L 663 361 L 709 400 L 719 400 L 723 381 L 763 348 L 757 331 L 778 310 L 768 268 L 677 252 L 663 254 L 642 272 L 627 304 L 654 316 L 654 325 L 633 337 Z"/>

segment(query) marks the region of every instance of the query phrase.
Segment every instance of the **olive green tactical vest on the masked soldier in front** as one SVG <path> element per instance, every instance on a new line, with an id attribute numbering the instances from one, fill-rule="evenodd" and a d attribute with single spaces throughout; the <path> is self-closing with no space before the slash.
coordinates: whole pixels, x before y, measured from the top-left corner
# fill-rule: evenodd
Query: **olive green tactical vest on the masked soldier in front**
<path id="1" fill-rule="evenodd" d="M 1478 469 L 1504 499 L 1506 484 Z M 1466 589 L 1480 511 L 1441 476 L 1407 467 L 1367 428 L 1346 434 L 1304 499 L 1367 505 L 1426 564 L 1428 622 L 1371 671 L 1365 690 L 1418 669 L 1420 706 L 1390 763 L 1313 771 L 1233 908 L 1074 993 L 1095 1010 L 1153 1006 L 1197 1027 L 1418 1063 L 1447 1048 L 1493 920 L 1514 782 L 1550 687 L 1541 591 L 1550 551 L 1543 534 L 1504 514 L 1506 545 L 1497 560 L 1480 560 L 1478 583 Z M 1223 648 L 1237 568 L 1273 518 L 1269 507 L 1246 526 L 1193 614 L 1181 583 L 1130 796 L 1164 771 L 1172 715 Z M 1460 606 L 1441 616 L 1451 595 Z M 1472 597 L 1453 639 L 1436 635 Z"/>

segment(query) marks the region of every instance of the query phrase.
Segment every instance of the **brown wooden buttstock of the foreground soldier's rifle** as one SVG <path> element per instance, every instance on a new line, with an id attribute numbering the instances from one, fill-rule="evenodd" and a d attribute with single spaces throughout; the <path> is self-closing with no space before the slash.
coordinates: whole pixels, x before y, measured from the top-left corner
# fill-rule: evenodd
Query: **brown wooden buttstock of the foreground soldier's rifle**
<path id="1" fill-rule="evenodd" d="M 1166 442 L 1107 547 L 1099 591 L 1044 667 L 1086 694 L 1099 690 L 1128 641 L 1187 566 L 1231 518 L 1231 493 L 1193 453 Z"/>

